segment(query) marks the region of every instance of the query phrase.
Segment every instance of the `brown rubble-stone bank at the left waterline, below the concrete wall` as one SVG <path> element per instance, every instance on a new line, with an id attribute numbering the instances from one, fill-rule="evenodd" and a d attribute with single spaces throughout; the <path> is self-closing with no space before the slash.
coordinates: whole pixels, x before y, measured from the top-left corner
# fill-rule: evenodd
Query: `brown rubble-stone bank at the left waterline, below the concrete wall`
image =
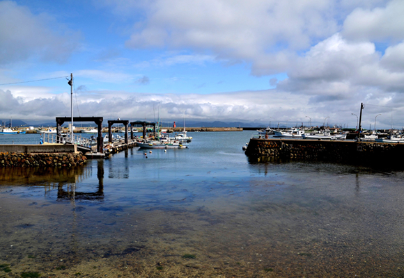
<path id="1" fill-rule="evenodd" d="M 86 156 L 81 153 L 27 154 L 0 152 L 0 167 L 74 167 L 84 165 Z"/>

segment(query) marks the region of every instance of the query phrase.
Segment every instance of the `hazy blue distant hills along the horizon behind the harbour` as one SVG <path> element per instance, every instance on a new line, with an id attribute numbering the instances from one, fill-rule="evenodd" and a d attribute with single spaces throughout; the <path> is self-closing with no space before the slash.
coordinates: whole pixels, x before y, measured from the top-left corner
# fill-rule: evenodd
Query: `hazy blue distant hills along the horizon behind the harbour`
<path id="1" fill-rule="evenodd" d="M 10 124 L 10 120 L 0 120 L 0 123 L 3 122 L 4 125 L 9 126 Z M 28 121 L 27 121 L 28 122 Z M 27 123 L 24 122 L 22 120 L 11 120 L 11 124 L 13 127 L 17 127 L 17 126 L 34 126 L 34 127 L 47 127 L 47 126 L 56 126 L 56 122 L 30 122 Z M 63 126 L 68 126 L 68 122 L 65 122 L 65 124 L 63 124 Z M 176 126 L 180 127 L 183 126 L 183 122 L 176 122 Z M 108 120 L 104 120 L 103 126 L 108 126 Z M 77 127 L 88 127 L 88 126 L 93 126 L 95 127 L 95 123 L 79 123 L 79 122 L 75 122 L 75 126 Z M 166 124 L 163 123 L 163 126 L 166 126 Z M 171 124 L 172 126 L 172 124 Z M 170 127 L 171 127 L 170 126 Z M 262 123 L 257 123 L 257 122 L 220 122 L 220 121 L 215 121 L 215 122 L 193 122 L 193 121 L 187 121 L 185 122 L 185 128 L 187 127 L 258 127 L 258 126 L 262 126 L 262 127 L 266 127 L 267 124 L 262 124 Z"/>

